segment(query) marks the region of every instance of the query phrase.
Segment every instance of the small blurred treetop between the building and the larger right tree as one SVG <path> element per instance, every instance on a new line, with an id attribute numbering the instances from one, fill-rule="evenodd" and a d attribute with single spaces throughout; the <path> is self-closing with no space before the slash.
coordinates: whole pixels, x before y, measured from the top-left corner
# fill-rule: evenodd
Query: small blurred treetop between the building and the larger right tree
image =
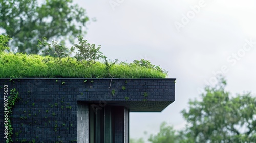
<path id="1" fill-rule="evenodd" d="M 167 126 L 166 122 L 160 125 L 160 132 L 157 135 L 150 135 L 148 141 L 152 143 L 174 143 L 180 142 L 179 136 L 172 126 Z"/>

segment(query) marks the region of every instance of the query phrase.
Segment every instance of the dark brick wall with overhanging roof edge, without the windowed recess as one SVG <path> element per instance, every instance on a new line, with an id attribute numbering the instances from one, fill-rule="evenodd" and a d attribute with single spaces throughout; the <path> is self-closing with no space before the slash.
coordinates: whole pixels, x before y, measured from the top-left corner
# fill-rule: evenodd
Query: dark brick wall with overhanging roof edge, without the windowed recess
<path id="1" fill-rule="evenodd" d="M 84 80 L 87 80 L 86 82 Z M 16 88 L 21 100 L 13 109 L 13 139 L 36 142 L 77 140 L 77 101 L 125 106 L 130 111 L 162 111 L 174 101 L 175 79 L 0 79 L 0 116 L 4 111 L 4 85 Z M 0 118 L 0 140 L 4 119 Z M 81 123 L 83 124 L 83 123 Z"/>

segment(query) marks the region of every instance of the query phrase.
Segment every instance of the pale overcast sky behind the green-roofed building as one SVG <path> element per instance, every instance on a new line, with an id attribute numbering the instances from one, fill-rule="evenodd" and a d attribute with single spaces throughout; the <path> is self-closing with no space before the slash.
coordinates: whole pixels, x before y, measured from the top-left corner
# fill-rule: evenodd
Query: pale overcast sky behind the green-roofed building
<path id="1" fill-rule="evenodd" d="M 77 0 L 96 22 L 86 39 L 119 61 L 150 60 L 177 78 L 175 102 L 161 113 L 130 113 L 130 137 L 148 138 L 161 122 L 182 129 L 180 111 L 199 98 L 214 73 L 223 73 L 233 95 L 256 93 L 255 1 Z M 144 134 L 147 131 L 147 135 Z"/>

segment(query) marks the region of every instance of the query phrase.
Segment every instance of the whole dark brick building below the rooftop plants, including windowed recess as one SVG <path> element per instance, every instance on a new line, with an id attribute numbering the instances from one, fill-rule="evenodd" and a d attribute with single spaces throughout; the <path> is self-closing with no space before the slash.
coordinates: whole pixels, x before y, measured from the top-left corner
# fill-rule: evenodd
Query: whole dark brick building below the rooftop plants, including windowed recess
<path id="1" fill-rule="evenodd" d="M 174 102 L 175 80 L 2 78 L 0 99 L 6 102 L 5 85 L 20 98 L 8 114 L 13 141 L 126 143 L 129 112 L 161 112 Z"/>

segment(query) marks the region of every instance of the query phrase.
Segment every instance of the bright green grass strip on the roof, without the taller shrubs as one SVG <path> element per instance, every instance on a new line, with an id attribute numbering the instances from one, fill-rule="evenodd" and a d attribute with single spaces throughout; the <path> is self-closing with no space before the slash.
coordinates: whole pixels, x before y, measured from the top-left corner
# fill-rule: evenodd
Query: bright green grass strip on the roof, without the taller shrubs
<path id="1" fill-rule="evenodd" d="M 67 61 L 68 58 L 62 58 Z M 103 62 L 84 67 L 76 58 L 69 58 L 63 66 L 51 56 L 0 52 L 0 78 L 166 78 L 167 73 L 134 63 L 117 63 L 106 69 Z"/>

